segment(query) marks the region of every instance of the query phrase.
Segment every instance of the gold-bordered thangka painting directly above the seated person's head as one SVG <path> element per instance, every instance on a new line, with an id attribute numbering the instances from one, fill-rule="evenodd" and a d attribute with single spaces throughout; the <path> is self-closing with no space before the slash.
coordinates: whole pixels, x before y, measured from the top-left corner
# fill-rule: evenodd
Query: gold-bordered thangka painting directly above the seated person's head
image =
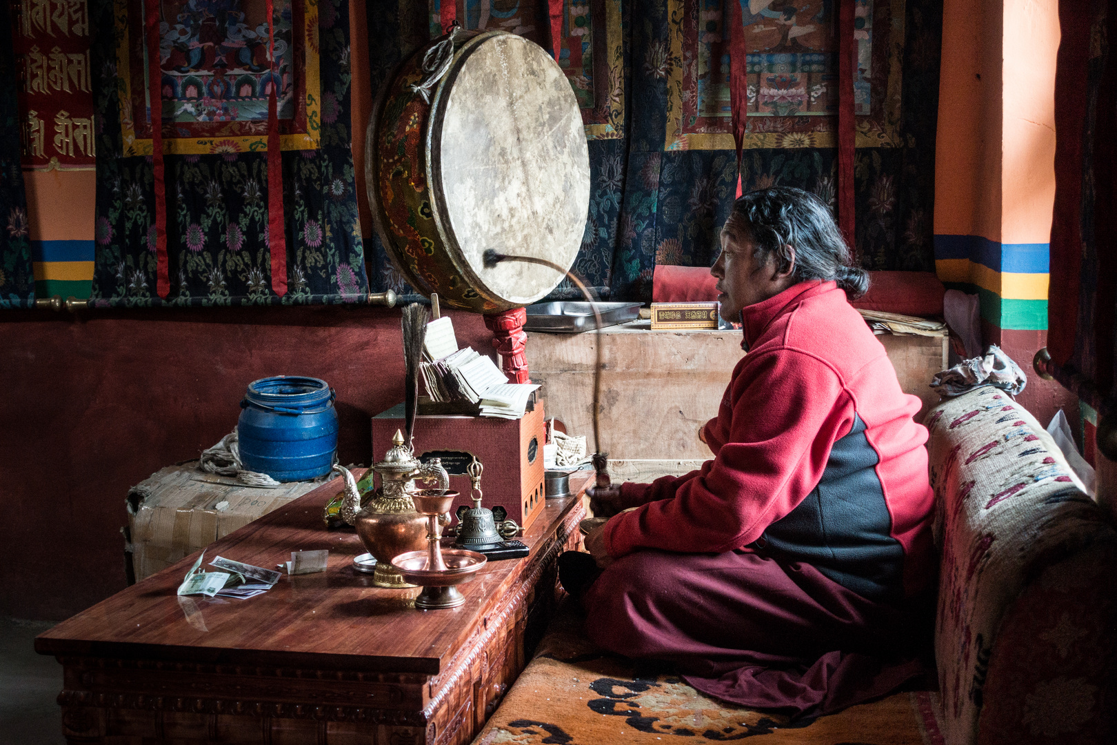
<path id="1" fill-rule="evenodd" d="M 733 150 L 726 2 L 745 27 L 745 147 L 833 147 L 838 121 L 833 0 L 668 0 L 667 150 Z M 894 19 L 899 20 L 897 23 Z M 857 0 L 858 147 L 900 144 L 904 0 Z"/>

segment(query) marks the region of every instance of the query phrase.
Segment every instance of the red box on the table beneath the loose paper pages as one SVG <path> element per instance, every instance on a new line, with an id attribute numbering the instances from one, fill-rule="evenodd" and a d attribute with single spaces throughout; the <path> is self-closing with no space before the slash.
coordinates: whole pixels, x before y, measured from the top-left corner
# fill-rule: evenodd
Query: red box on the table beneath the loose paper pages
<path id="1" fill-rule="evenodd" d="M 395 430 L 403 429 L 403 404 L 372 418 L 372 458 L 380 461 L 392 447 Z M 524 414 L 523 419 L 464 417 L 457 414 L 421 414 L 416 418 L 416 456 L 424 462 L 441 458 L 450 475 L 450 488 L 461 493 L 454 502 L 472 506 L 469 499 L 469 476 L 466 467 L 474 456 L 481 461 L 481 506 L 497 505 L 508 510 L 508 517 L 527 528 L 540 513 L 546 496 L 543 486 L 543 404 Z M 379 487 L 379 479 L 376 486 Z"/>

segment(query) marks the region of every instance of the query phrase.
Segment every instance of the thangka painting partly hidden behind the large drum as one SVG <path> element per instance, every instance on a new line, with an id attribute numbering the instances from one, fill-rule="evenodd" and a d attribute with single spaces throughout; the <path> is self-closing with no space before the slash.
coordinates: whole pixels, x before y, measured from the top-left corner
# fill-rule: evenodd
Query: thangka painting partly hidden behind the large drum
<path id="1" fill-rule="evenodd" d="M 548 0 L 429 0 L 430 38 L 441 36 L 442 2 L 462 28 L 508 31 L 552 51 Z M 563 0 L 558 66 L 577 97 L 589 140 L 623 136 L 621 0 Z"/>

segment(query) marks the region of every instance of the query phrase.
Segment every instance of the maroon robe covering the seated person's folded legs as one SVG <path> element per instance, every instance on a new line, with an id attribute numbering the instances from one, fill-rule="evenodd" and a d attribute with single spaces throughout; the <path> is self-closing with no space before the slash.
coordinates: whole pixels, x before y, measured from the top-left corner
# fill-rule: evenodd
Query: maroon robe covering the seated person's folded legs
<path id="1" fill-rule="evenodd" d="M 619 558 L 582 596 L 601 647 L 674 662 L 704 694 L 814 717 L 924 671 L 928 613 L 866 600 L 810 564 L 746 551 Z M 842 650 L 842 651 L 839 651 Z"/>

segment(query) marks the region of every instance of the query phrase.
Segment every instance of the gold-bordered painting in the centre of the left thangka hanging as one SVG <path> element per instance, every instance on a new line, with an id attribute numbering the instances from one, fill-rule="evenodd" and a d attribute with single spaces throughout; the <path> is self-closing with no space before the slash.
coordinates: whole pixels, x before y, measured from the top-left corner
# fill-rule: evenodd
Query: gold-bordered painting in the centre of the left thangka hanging
<path id="1" fill-rule="evenodd" d="M 120 122 L 125 155 L 152 152 L 143 4 L 115 3 Z M 317 4 L 275 0 L 268 59 L 266 0 L 163 0 L 159 25 L 163 152 L 267 146 L 276 90 L 283 150 L 315 149 L 321 125 Z"/>

